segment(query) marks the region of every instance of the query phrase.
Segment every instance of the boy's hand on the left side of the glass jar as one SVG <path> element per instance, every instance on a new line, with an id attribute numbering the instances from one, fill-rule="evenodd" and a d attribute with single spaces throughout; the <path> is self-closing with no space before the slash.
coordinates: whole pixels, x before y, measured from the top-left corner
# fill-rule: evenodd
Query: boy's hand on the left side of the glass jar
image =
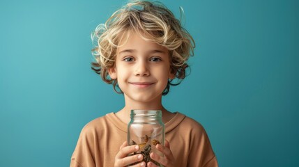
<path id="1" fill-rule="evenodd" d="M 135 162 L 139 162 L 143 159 L 143 156 L 141 154 L 135 154 L 132 156 L 128 156 L 128 154 L 132 152 L 137 152 L 139 150 L 138 145 L 129 145 L 127 141 L 123 142 L 121 145 L 121 148 L 119 148 L 118 153 L 116 154 L 115 161 L 114 161 L 114 167 L 123 167 L 128 166 L 130 164 L 135 164 Z M 142 161 L 138 164 L 135 164 L 134 166 L 146 166 L 145 162 Z"/>

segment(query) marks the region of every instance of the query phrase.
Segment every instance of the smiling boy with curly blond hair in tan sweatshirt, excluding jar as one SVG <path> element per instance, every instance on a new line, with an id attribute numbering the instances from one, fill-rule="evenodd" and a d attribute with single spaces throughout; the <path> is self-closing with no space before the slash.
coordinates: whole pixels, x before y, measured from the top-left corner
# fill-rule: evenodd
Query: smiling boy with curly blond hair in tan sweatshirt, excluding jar
<path id="1" fill-rule="evenodd" d="M 139 150 L 126 142 L 132 109 L 162 111 L 165 144 L 156 145 L 164 156 L 150 157 L 163 166 L 217 166 L 204 128 L 181 113 L 162 106 L 174 79 L 184 79 L 194 41 L 161 3 L 133 1 L 117 10 L 93 34 L 96 63 L 93 70 L 114 90 L 123 93 L 121 111 L 89 122 L 79 136 L 70 166 L 155 166 L 142 161 Z"/>

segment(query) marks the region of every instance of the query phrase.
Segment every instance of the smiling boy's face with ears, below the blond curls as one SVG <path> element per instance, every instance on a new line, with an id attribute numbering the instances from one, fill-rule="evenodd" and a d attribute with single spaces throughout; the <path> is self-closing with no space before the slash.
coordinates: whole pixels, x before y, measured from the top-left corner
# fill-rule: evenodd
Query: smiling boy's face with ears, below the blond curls
<path id="1" fill-rule="evenodd" d="M 130 33 L 120 46 L 116 65 L 108 71 L 112 79 L 117 79 L 125 98 L 136 102 L 160 100 L 168 79 L 174 78 L 168 49 L 144 40 L 138 33 Z"/>

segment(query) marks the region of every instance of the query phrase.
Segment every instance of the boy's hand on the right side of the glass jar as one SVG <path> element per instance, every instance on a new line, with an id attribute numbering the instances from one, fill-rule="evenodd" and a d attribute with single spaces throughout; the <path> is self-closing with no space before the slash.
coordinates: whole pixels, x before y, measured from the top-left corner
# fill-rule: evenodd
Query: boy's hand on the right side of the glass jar
<path id="1" fill-rule="evenodd" d="M 158 162 L 159 164 L 161 164 L 164 167 L 171 167 L 171 166 L 175 166 L 175 162 L 174 162 L 174 155 L 172 154 L 171 150 L 170 150 L 170 146 L 169 146 L 169 142 L 167 140 L 165 140 L 165 145 L 156 145 L 155 148 L 157 148 L 157 150 L 159 150 L 160 152 L 162 152 L 164 154 L 164 157 L 161 157 L 158 154 L 155 153 L 151 153 L 151 159 L 153 159 L 154 161 Z M 148 162 L 147 164 L 150 167 L 155 167 L 156 165 L 153 164 L 153 162 Z M 158 167 L 158 166 L 157 166 Z"/>

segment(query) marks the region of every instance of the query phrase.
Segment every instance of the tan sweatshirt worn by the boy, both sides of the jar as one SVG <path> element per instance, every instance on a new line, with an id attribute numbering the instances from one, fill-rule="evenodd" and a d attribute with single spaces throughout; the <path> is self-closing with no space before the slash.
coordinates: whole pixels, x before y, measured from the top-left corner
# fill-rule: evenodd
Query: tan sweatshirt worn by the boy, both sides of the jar
<path id="1" fill-rule="evenodd" d="M 127 126 L 114 113 L 89 122 L 82 129 L 70 166 L 114 166 L 114 157 L 127 140 Z M 178 167 L 218 166 L 204 127 L 192 118 L 176 113 L 165 124 L 165 138 Z"/>

